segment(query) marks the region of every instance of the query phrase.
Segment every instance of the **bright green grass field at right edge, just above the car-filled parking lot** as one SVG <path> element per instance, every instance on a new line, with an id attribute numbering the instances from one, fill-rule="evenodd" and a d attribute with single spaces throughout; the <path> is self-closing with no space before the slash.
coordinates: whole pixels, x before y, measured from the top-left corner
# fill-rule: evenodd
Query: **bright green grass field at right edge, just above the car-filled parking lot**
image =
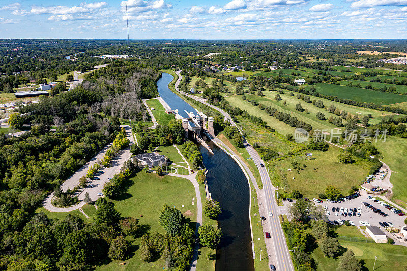
<path id="1" fill-rule="evenodd" d="M 382 161 L 392 170 L 390 182 L 393 184 L 393 198 L 396 203 L 402 207 L 407 203 L 407 167 L 405 159 L 407 157 L 407 139 L 387 136 L 386 142 L 377 142 L 374 144 L 383 154 Z"/>

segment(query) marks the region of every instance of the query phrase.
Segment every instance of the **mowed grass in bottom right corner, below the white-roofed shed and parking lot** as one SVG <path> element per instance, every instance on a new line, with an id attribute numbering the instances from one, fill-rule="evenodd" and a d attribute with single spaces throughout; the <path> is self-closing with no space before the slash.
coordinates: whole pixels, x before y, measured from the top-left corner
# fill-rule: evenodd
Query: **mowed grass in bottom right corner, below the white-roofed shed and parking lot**
<path id="1" fill-rule="evenodd" d="M 335 233 L 340 236 L 364 238 L 356 226 L 341 226 L 335 230 Z M 376 271 L 404 271 L 407 269 L 407 247 L 344 240 L 339 240 L 339 244 L 348 249 L 352 249 L 355 253 L 355 257 L 363 261 L 362 270 L 373 271 L 375 257 L 377 257 L 374 267 Z M 318 263 L 317 270 L 319 271 L 331 271 L 338 268 L 339 260 L 324 257 L 324 253 L 319 248 L 316 248 L 312 252 L 312 257 Z"/>

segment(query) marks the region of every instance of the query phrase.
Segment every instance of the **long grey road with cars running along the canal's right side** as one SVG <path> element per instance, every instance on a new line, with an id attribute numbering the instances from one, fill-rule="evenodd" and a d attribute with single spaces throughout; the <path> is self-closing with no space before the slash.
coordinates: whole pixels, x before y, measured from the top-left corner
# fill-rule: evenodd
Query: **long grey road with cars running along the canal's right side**
<path id="1" fill-rule="evenodd" d="M 179 71 L 176 72 L 178 75 L 178 80 L 175 83 L 175 89 L 179 91 L 178 85 L 180 84 L 180 81 L 182 79 L 181 73 Z M 227 114 L 224 110 L 211 105 L 205 101 L 205 99 L 202 99 L 200 97 L 196 97 L 194 95 L 188 95 L 186 93 L 183 93 L 187 95 L 188 97 L 199 101 L 207 106 L 210 106 L 216 110 L 218 110 L 226 119 L 228 119 L 231 123 L 231 125 L 236 126 L 236 123 L 233 121 L 233 119 Z M 268 254 L 273 253 L 275 255 L 275 260 L 274 262 L 270 261 L 271 264 L 274 264 L 277 268 L 277 270 L 284 270 L 284 271 L 294 271 L 294 265 L 293 262 L 291 261 L 290 254 L 288 251 L 287 243 L 285 240 L 285 236 L 279 221 L 279 208 L 277 207 L 276 200 L 275 200 L 275 187 L 271 184 L 270 176 L 267 172 L 266 167 L 261 166 L 260 164 L 265 164 L 264 161 L 260 158 L 258 153 L 254 150 L 254 148 L 247 143 L 245 140 L 244 142 L 245 148 L 247 149 L 247 152 L 249 155 L 252 157 L 254 163 L 256 164 L 260 176 L 261 176 L 261 183 L 263 184 L 263 194 L 264 197 L 264 202 L 261 202 L 262 207 L 266 209 L 266 213 L 268 214 L 269 212 L 272 212 L 273 216 L 267 216 L 266 221 L 267 223 L 264 223 L 263 229 L 269 229 L 271 238 L 266 239 L 266 247 L 267 247 L 267 252 Z M 268 224 L 268 225 L 267 225 Z"/>

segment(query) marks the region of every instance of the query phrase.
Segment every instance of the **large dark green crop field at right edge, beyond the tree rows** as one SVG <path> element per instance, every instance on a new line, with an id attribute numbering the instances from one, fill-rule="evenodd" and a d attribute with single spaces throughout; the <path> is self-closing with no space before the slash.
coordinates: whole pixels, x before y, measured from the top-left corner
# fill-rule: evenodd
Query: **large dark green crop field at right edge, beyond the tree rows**
<path id="1" fill-rule="evenodd" d="M 316 83 L 314 87 L 317 92 L 323 95 L 337 96 L 341 99 L 350 99 L 357 102 L 389 105 L 407 101 L 407 96 L 388 92 L 376 92 L 371 89 L 326 83 Z M 310 86 L 308 86 L 308 88 L 310 88 Z"/>

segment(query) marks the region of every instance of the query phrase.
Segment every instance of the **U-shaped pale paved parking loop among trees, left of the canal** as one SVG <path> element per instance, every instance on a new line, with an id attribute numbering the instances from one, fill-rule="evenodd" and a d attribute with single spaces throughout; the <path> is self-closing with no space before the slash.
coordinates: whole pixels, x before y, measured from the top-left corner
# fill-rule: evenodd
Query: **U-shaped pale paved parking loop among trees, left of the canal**
<path id="1" fill-rule="evenodd" d="M 131 127 L 129 126 L 123 126 L 126 129 L 126 136 L 130 140 L 130 145 L 134 144 L 134 139 L 131 134 Z M 79 184 L 79 179 L 80 177 L 86 175 L 86 172 L 88 172 L 88 169 L 90 166 L 94 165 L 98 159 L 102 159 L 103 156 L 105 155 L 105 152 L 107 149 L 111 146 L 111 144 L 107 145 L 104 147 L 95 157 L 93 157 L 88 163 L 86 163 L 83 167 L 81 167 L 78 171 L 76 171 L 70 178 L 68 178 L 62 185 L 61 189 L 63 191 L 67 191 L 68 189 L 73 189 L 75 186 Z M 96 201 L 99 197 L 98 193 L 102 193 L 103 186 L 106 182 L 109 181 L 109 178 L 112 178 L 114 174 L 117 174 L 120 171 L 120 168 L 123 166 L 123 163 L 127 161 L 131 157 L 130 153 L 130 146 L 127 147 L 126 149 L 122 150 L 122 152 L 117 155 L 114 159 L 111 161 L 111 167 L 108 168 L 103 168 L 102 170 L 104 171 L 103 174 L 98 174 L 96 175 L 97 177 L 100 177 L 100 180 L 91 180 L 88 185 L 92 184 L 94 187 L 87 187 L 85 189 L 82 189 L 79 194 L 77 194 L 78 199 L 81 200 L 81 203 L 78 205 L 69 207 L 69 208 L 59 208 L 55 207 L 51 204 L 51 199 L 54 196 L 54 193 L 52 192 L 50 195 L 48 195 L 45 198 L 45 201 L 43 202 L 43 206 L 45 209 L 51 211 L 51 212 L 69 212 L 71 210 L 76 210 L 82 207 L 85 202 L 82 201 L 85 197 L 85 193 L 88 192 L 89 196 L 91 197 L 92 201 Z"/>

